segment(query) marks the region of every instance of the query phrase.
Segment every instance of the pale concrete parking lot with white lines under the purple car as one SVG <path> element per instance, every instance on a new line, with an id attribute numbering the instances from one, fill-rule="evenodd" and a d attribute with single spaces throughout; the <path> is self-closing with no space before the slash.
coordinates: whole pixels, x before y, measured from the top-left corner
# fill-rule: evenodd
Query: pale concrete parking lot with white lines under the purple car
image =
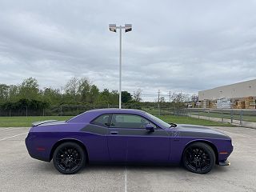
<path id="1" fill-rule="evenodd" d="M 256 130 L 214 127 L 233 138 L 231 166 L 193 174 L 180 166 L 87 166 L 64 175 L 30 158 L 29 128 L 0 128 L 0 191 L 256 191 Z"/>

